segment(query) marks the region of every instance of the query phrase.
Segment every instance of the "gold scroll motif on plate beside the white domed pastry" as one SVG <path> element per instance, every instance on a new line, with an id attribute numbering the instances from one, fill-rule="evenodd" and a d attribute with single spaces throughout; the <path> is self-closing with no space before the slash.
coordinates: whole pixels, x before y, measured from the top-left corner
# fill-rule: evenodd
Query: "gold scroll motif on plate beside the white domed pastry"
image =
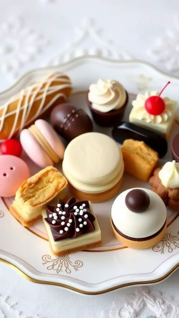
<path id="1" fill-rule="evenodd" d="M 154 252 L 160 252 L 161 254 L 164 254 L 165 251 L 172 253 L 176 248 L 179 248 L 179 231 L 177 235 L 166 233 L 163 239 L 152 249 Z"/>

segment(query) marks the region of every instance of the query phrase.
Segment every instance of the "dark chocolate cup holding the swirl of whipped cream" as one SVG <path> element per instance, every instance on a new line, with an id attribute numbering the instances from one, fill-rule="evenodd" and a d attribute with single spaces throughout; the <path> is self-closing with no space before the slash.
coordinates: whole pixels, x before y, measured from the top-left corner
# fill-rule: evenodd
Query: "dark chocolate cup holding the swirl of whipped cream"
<path id="1" fill-rule="evenodd" d="M 86 95 L 86 101 L 91 111 L 91 114 L 93 116 L 93 119 L 97 123 L 97 125 L 102 127 L 113 127 L 118 125 L 124 116 L 125 108 L 128 104 L 128 93 L 126 92 L 125 104 L 121 108 L 116 110 L 111 110 L 108 113 L 101 113 L 97 111 L 96 109 L 93 109 L 91 107 L 91 102 L 88 100 L 88 93 Z"/>

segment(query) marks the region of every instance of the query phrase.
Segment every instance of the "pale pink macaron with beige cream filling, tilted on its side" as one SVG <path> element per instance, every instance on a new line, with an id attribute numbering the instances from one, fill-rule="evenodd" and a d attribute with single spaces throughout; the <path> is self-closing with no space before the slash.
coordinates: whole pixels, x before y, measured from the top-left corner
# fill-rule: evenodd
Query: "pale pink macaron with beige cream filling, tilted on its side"
<path id="1" fill-rule="evenodd" d="M 65 146 L 47 121 L 38 119 L 22 130 L 20 142 L 26 154 L 38 166 L 45 168 L 63 159 Z"/>

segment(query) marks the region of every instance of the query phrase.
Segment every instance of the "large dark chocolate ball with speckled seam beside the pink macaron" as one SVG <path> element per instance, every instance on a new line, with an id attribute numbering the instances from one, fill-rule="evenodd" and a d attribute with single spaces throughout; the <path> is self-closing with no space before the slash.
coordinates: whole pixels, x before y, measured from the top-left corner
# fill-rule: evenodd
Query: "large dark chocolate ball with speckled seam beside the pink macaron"
<path id="1" fill-rule="evenodd" d="M 61 137 L 70 142 L 75 137 L 93 131 L 88 114 L 71 104 L 60 104 L 51 112 L 50 122 Z"/>

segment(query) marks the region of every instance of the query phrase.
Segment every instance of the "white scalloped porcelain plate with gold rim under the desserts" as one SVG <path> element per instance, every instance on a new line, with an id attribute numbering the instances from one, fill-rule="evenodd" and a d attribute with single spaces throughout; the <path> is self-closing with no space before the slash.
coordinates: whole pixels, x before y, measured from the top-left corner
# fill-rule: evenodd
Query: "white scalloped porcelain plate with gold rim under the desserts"
<path id="1" fill-rule="evenodd" d="M 0 94 L 0 105 L 14 93 L 53 71 L 62 71 L 70 76 L 74 87 L 70 100 L 85 110 L 85 92 L 99 78 L 119 80 L 131 98 L 147 89 L 160 91 L 170 80 L 171 84 L 166 88 L 165 94 L 175 100 L 179 99 L 179 79 L 162 73 L 147 63 L 83 57 L 60 66 L 26 73 L 14 86 Z M 128 120 L 130 108 L 129 103 L 125 120 Z M 111 129 L 95 126 L 95 130 L 111 134 Z M 177 131 L 179 126 L 175 123 L 172 136 Z M 23 158 L 29 164 L 32 174 L 39 170 L 27 156 L 24 155 Z M 169 142 L 168 154 L 160 163 L 171 159 Z M 58 168 L 61 169 L 61 166 L 58 165 Z M 133 187 L 149 188 L 149 185 L 125 175 L 120 191 Z M 30 229 L 23 228 L 8 211 L 13 198 L 0 198 L 0 259 L 18 269 L 29 280 L 59 285 L 86 294 L 99 294 L 166 278 L 179 266 L 179 211 L 168 210 L 167 234 L 157 246 L 137 251 L 126 248 L 113 235 L 110 215 L 114 199 L 93 205 L 102 231 L 102 247 L 55 257 L 50 250 L 42 221 Z"/>

